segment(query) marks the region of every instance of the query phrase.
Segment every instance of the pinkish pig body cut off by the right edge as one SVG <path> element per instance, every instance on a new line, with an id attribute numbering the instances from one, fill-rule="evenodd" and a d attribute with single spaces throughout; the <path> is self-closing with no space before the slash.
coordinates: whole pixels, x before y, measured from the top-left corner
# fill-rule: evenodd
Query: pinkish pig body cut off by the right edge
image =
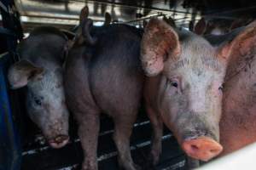
<path id="1" fill-rule="evenodd" d="M 227 155 L 256 142 L 256 23 L 236 29 L 228 35 L 207 37 L 210 42 L 222 43 L 236 37 L 224 83 L 223 113 L 219 124 L 220 144 Z M 245 38 L 247 37 L 247 38 Z"/>

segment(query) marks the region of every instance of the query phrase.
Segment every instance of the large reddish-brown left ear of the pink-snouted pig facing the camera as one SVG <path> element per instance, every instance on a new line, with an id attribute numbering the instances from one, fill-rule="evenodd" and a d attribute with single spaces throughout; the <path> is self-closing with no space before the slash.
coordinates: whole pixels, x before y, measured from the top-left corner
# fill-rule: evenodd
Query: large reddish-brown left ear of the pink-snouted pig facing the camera
<path id="1" fill-rule="evenodd" d="M 177 58 L 180 45 L 176 31 L 165 21 L 151 19 L 145 28 L 141 45 L 143 69 L 148 76 L 155 76 L 164 68 L 165 58 Z"/>

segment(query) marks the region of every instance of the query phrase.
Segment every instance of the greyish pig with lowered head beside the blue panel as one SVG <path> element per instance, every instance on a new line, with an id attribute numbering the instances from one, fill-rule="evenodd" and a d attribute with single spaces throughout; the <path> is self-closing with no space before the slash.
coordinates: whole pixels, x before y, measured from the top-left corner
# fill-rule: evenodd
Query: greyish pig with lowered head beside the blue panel
<path id="1" fill-rule="evenodd" d="M 69 139 L 62 66 L 66 44 L 67 36 L 55 27 L 38 27 L 20 42 L 20 61 L 8 72 L 11 88 L 26 86 L 28 116 L 53 148 L 61 148 Z"/>

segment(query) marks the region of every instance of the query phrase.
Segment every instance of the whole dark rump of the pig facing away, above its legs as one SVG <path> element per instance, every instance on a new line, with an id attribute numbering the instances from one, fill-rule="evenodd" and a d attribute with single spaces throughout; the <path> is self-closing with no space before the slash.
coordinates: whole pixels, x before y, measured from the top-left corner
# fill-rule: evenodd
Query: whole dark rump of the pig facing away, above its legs
<path id="1" fill-rule="evenodd" d="M 68 98 L 78 105 L 81 101 L 74 98 L 82 94 L 83 103 L 111 116 L 118 111 L 137 111 L 143 88 L 140 32 L 132 26 L 110 25 L 93 28 L 91 35 L 96 44 L 75 47 L 69 53 Z"/>

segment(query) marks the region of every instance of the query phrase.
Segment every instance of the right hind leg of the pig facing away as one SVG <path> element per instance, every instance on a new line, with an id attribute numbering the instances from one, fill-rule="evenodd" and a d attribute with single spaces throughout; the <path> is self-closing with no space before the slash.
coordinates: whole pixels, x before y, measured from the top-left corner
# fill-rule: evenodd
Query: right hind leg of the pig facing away
<path id="1" fill-rule="evenodd" d="M 136 121 L 136 114 L 119 115 L 113 118 L 114 133 L 113 140 L 118 150 L 119 166 L 125 170 L 136 170 L 137 165 L 131 159 L 130 137 L 133 123 Z"/>

